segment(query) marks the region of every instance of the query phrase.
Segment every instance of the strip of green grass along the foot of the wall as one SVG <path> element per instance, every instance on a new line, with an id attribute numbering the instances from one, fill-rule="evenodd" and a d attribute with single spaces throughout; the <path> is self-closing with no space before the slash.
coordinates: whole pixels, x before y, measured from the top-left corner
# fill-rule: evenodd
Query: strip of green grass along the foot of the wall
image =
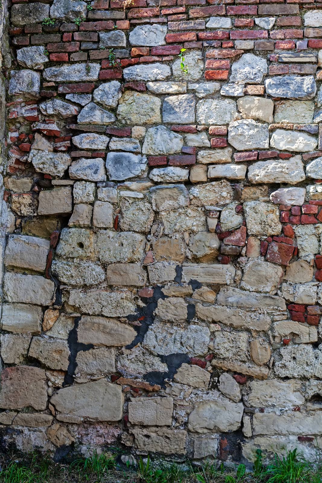
<path id="1" fill-rule="evenodd" d="M 47 455 L 15 455 L 1 462 L 0 483 L 322 483 L 319 462 L 309 463 L 296 450 L 275 455 L 266 467 L 257 450 L 251 471 L 243 464 L 228 471 L 223 463 L 194 466 L 152 461 L 149 456 L 131 467 L 120 465 L 117 457 L 117 452 L 98 455 L 94 450 L 87 458 L 58 464 Z"/>

